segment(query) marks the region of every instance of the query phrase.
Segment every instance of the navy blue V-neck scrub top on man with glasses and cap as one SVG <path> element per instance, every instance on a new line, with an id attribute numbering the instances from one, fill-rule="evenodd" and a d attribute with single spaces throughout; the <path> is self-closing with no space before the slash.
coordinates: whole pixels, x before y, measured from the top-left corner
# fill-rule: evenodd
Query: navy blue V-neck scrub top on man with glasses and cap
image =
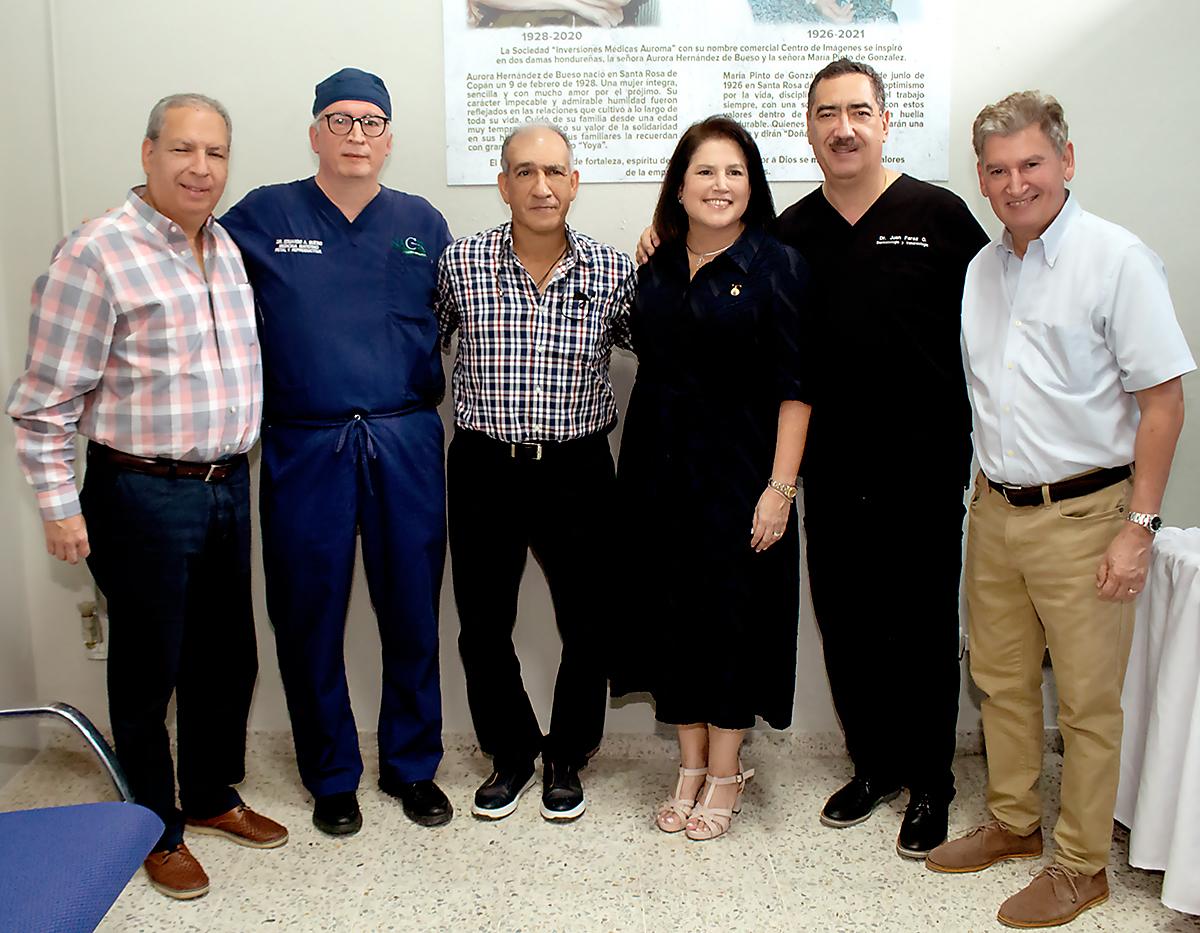
<path id="1" fill-rule="evenodd" d="M 451 236 L 427 200 L 380 188 L 352 223 L 310 177 L 250 192 L 221 223 L 254 287 L 268 420 L 440 401 L 433 301 Z"/>

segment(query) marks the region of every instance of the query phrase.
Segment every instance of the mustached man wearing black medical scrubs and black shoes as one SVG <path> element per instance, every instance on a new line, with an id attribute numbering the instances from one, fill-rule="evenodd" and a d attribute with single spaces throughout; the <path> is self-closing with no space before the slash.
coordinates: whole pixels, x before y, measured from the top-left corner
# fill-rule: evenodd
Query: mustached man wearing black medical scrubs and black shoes
<path id="1" fill-rule="evenodd" d="M 804 450 L 809 580 L 854 776 L 839 829 L 910 790 L 896 851 L 946 839 L 959 711 L 962 494 L 971 466 L 959 320 L 988 242 L 948 191 L 883 167 L 890 115 L 869 65 L 809 88 L 824 183 L 778 221 L 812 271 L 812 416 Z M 638 258 L 656 246 L 642 235 Z"/>

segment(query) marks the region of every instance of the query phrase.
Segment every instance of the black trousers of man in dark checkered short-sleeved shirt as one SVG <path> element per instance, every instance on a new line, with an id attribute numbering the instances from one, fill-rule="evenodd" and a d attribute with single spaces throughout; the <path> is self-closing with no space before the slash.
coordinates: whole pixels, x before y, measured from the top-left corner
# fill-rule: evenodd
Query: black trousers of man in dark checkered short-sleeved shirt
<path id="1" fill-rule="evenodd" d="M 614 472 L 594 434 L 527 447 L 457 431 L 446 464 L 458 650 L 480 748 L 497 766 L 534 759 L 582 766 L 600 745 L 607 705 L 601 662 Z M 550 734 L 542 739 L 512 645 L 526 554 L 541 564 L 563 652 Z"/>

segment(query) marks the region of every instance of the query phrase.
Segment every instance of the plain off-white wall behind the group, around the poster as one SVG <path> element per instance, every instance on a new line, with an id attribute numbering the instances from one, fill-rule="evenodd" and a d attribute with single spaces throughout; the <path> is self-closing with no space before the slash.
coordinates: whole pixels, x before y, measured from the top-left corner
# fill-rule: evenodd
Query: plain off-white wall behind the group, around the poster
<path id="1" fill-rule="evenodd" d="M 335 11 L 347 10 L 342 16 Z M 349 12 L 353 10 L 353 14 Z M 138 145 L 145 115 L 160 96 L 198 90 L 221 98 L 234 120 L 233 164 L 226 204 L 250 188 L 308 175 L 313 157 L 306 126 L 313 84 L 354 64 L 388 83 L 397 134 L 384 181 L 428 197 L 451 229 L 466 234 L 504 219 L 490 188 L 448 188 L 444 182 L 440 8 L 433 2 L 361 0 L 353 7 L 317 0 L 210 0 L 203 8 L 124 0 L 26 0 L 6 4 L 0 59 L 8 89 L 19 89 L 7 109 L 0 177 L 6 199 L 0 224 L 4 240 L 4 325 L 24 332 L 28 283 L 46 263 L 64 231 L 56 201 L 61 179 L 66 223 L 119 203 L 139 181 Z M 1010 0 L 995 5 L 960 0 L 953 26 L 950 187 L 977 217 L 996 230 L 978 193 L 970 149 L 970 125 L 978 109 L 1004 94 L 1042 88 L 1063 102 L 1079 158 L 1074 191 L 1082 203 L 1139 233 L 1164 258 L 1180 318 L 1200 351 L 1200 269 L 1194 261 L 1193 212 L 1200 205 L 1190 161 L 1198 150 L 1193 101 L 1194 36 L 1200 4 L 1176 0 Z M 50 67 L 53 48 L 54 67 Z M 61 157 L 47 114 L 58 108 Z M 13 126 L 19 114 L 22 126 Z M 703 114 L 696 114 L 702 116 Z M 622 248 L 632 248 L 655 197 L 650 185 L 587 186 L 572 211 L 580 229 Z M 775 187 L 780 207 L 811 186 Z M 0 363 L 7 386 L 19 366 L 20 339 Z M 634 363 L 613 365 L 620 401 L 632 381 Z M 1200 380 L 1186 381 L 1188 404 L 1200 413 Z M 11 435 L 0 434 L 0 459 L 11 461 Z M 7 468 L 4 468 L 7 469 Z M 1170 524 L 1200 524 L 1200 428 L 1186 428 L 1168 490 Z M 42 699 L 67 698 L 89 711 L 104 708 L 103 670 L 83 660 L 74 603 L 86 594 L 78 568 L 54 566 L 42 553 L 31 494 L 14 492 L 0 472 L 0 495 L 14 511 L 14 532 L 0 547 L 24 555 L 26 609 L 32 625 L 37 692 Z M 19 501 L 12 501 L 16 495 Z M 864 529 L 864 534 L 869 534 Z M 10 543 L 11 542 L 11 543 Z M 532 561 L 530 561 L 532 564 Z M 6 579 L 7 583 L 7 579 Z M 7 591 L 7 586 L 6 586 Z M 287 727 L 274 643 L 258 589 L 262 676 L 253 728 Z M 904 610 L 904 596 L 898 610 Z M 10 600 L 5 600 L 6 610 Z M 540 710 L 550 700 L 557 637 L 540 573 L 528 574 L 517 630 L 527 681 Z M 613 613 L 620 612 L 614 600 Z M 378 708 L 377 636 L 361 578 L 350 607 L 347 656 L 360 727 L 373 728 Z M 446 728 L 469 730 L 462 669 L 455 648 L 456 619 L 443 592 L 443 693 Z M 16 636 L 2 633 L 0 655 Z M 648 646 L 642 646 L 643 650 Z M 2 674 L 2 670 L 0 670 Z M 102 718 L 102 717 L 101 717 Z M 973 728 L 978 712 L 964 704 L 960 726 Z M 643 704 L 610 716 L 613 732 L 653 728 Z M 820 645 L 805 610 L 800 620 L 794 727 L 830 732 L 835 720 L 821 664 Z"/>

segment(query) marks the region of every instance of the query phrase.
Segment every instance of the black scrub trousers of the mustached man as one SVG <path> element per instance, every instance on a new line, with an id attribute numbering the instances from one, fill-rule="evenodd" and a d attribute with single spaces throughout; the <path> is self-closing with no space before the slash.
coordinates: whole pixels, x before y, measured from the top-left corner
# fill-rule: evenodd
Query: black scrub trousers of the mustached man
<path id="1" fill-rule="evenodd" d="M 854 772 L 954 795 L 964 489 L 804 480 L 812 608 Z"/>

